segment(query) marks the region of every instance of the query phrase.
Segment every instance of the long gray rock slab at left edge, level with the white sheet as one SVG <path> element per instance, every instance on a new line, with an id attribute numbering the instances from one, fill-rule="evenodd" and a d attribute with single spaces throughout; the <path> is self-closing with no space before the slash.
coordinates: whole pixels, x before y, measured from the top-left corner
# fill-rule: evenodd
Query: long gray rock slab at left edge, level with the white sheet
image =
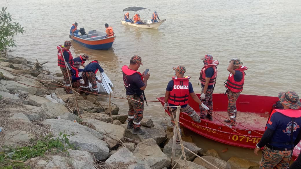
<path id="1" fill-rule="evenodd" d="M 30 86 L 24 85 L 24 84 L 28 84 L 28 85 L 31 85 L 31 86 L 35 86 L 35 84 L 33 82 L 29 82 L 29 81 L 22 81 L 21 83 L 24 83 L 24 84 L 20 84 L 20 83 L 17 83 L 15 81 L 4 81 L 4 80 L 2 80 L 2 81 L 0 81 L 0 83 L 5 84 L 5 87 L 8 90 L 26 91 L 29 94 L 36 94 L 36 92 L 37 92 L 37 89 L 35 87 L 30 87 Z"/>

